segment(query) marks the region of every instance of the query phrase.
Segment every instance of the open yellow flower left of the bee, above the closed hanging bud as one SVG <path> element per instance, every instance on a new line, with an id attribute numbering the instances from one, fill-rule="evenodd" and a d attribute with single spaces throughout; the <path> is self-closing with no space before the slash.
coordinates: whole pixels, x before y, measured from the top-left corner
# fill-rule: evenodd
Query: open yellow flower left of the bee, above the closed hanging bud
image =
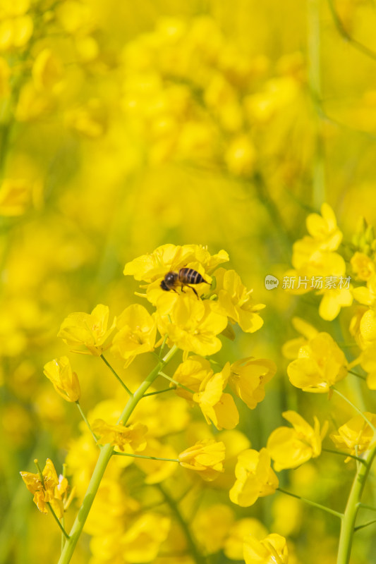
<path id="1" fill-rule="evenodd" d="M 97 305 L 90 314 L 71 313 L 64 319 L 60 326 L 58 337 L 61 337 L 73 353 L 94 355 L 99 357 L 104 350 L 104 341 L 107 340 L 114 323 L 109 329 L 109 308 L 107 305 Z"/>

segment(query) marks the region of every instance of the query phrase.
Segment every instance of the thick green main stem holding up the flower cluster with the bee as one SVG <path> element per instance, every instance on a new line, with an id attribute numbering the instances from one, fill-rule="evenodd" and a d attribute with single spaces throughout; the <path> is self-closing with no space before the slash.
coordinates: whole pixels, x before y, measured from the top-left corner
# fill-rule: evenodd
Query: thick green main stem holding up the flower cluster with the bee
<path id="1" fill-rule="evenodd" d="M 164 367 L 171 360 L 177 350 L 178 349 L 174 345 L 174 347 L 172 347 L 169 352 L 166 353 L 164 358 L 159 361 L 157 366 L 152 369 L 152 372 L 150 372 L 150 374 L 138 387 L 135 393 L 130 396 L 128 402 L 126 403 L 126 407 L 124 407 L 123 412 L 119 417 L 118 424 L 121 423 L 125 425 L 126 422 L 128 422 L 129 417 L 131 417 L 133 410 L 135 409 L 140 399 L 143 397 L 144 393 L 147 391 L 147 388 L 149 388 L 154 380 L 157 379 L 157 376 L 159 376 L 159 372 L 161 372 L 162 367 Z M 75 545 L 80 538 L 80 534 L 83 532 L 83 527 L 87 520 L 87 515 L 89 515 L 90 508 L 99 489 L 99 485 L 102 481 L 104 471 L 106 470 L 113 453 L 114 447 L 111 445 L 105 445 L 104 447 L 102 447 L 101 452 L 99 453 L 97 464 L 95 465 L 89 486 L 87 487 L 83 504 L 81 505 L 80 510 L 78 510 L 77 517 L 75 517 L 75 522 L 73 523 L 69 540 L 66 541 L 66 545 L 63 548 L 63 552 L 61 553 L 58 564 L 68 564 L 71 561 L 73 552 L 75 550 Z"/>

